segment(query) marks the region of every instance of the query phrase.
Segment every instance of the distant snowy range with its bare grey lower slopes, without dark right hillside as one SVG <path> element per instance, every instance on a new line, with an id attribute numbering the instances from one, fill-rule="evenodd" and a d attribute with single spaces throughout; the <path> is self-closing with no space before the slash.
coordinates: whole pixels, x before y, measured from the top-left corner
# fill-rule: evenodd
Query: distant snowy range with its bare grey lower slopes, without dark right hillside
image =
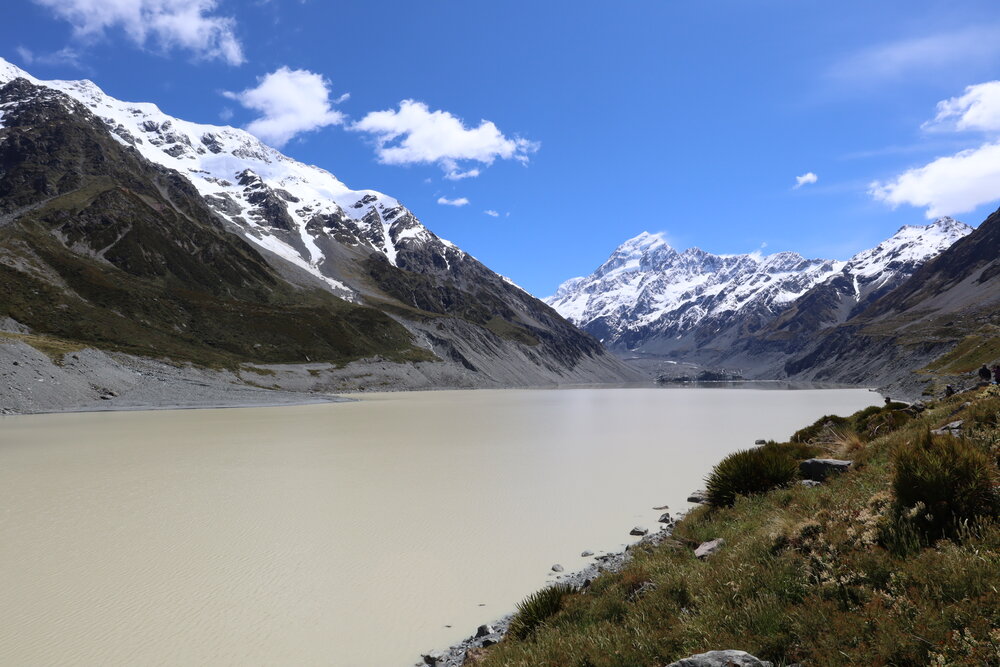
<path id="1" fill-rule="evenodd" d="M 783 376 L 786 362 L 815 352 L 817 336 L 853 321 L 971 231 L 951 218 L 908 225 L 846 262 L 678 252 L 643 233 L 547 302 L 635 363 L 669 357 Z"/>

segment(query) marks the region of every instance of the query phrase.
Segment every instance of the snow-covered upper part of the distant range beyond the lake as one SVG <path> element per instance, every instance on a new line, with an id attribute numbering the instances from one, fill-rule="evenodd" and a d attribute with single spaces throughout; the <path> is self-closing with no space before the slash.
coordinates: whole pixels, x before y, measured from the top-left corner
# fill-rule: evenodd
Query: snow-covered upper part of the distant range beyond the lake
<path id="1" fill-rule="evenodd" d="M 951 218 L 906 226 L 846 262 L 792 252 L 677 251 L 661 235 L 644 232 L 593 274 L 566 281 L 545 301 L 612 348 L 693 350 L 762 329 L 800 301 L 815 300 L 820 286 L 836 292 L 837 312 L 824 321 L 843 321 L 970 231 Z"/>

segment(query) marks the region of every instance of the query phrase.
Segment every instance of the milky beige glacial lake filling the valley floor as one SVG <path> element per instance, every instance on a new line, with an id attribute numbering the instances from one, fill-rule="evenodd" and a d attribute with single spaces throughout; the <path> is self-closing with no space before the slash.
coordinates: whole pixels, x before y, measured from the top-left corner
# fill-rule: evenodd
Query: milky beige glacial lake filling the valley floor
<path id="1" fill-rule="evenodd" d="M 411 665 L 857 389 L 0 418 L 0 664 Z M 446 626 L 452 626 L 448 628 Z"/>

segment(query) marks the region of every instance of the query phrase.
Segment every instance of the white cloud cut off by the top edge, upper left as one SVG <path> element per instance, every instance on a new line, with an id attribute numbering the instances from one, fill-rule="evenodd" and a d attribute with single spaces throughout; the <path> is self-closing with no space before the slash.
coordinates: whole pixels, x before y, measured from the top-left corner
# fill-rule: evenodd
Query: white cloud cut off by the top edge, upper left
<path id="1" fill-rule="evenodd" d="M 213 14 L 217 0 L 34 0 L 68 21 L 81 39 L 121 28 L 140 47 L 184 49 L 231 65 L 244 62 L 232 18 Z"/>

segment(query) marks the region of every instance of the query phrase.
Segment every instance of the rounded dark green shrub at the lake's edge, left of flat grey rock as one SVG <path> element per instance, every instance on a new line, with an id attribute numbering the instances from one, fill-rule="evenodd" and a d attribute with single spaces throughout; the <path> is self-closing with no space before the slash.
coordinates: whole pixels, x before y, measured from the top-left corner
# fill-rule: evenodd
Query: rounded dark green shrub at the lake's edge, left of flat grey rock
<path id="1" fill-rule="evenodd" d="M 715 466 L 706 480 L 708 503 L 713 507 L 728 507 L 736 502 L 737 496 L 787 486 L 797 473 L 795 458 L 777 447 L 730 454 Z"/>

